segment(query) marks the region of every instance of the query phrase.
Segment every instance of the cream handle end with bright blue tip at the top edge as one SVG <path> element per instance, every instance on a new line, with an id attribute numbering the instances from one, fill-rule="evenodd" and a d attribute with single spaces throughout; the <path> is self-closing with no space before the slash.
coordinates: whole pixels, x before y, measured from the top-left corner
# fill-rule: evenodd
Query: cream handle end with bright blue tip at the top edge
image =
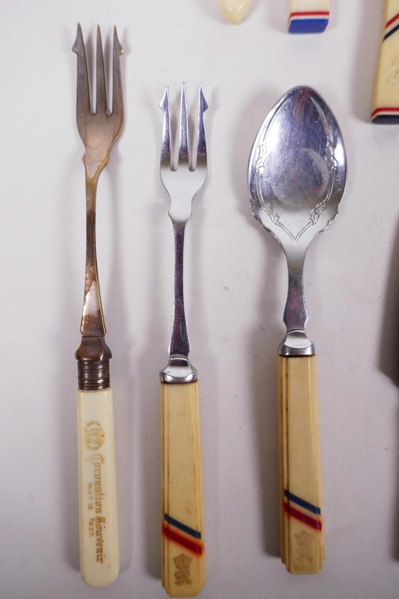
<path id="1" fill-rule="evenodd" d="M 288 33 L 321 34 L 330 18 L 330 0 L 290 0 Z"/>

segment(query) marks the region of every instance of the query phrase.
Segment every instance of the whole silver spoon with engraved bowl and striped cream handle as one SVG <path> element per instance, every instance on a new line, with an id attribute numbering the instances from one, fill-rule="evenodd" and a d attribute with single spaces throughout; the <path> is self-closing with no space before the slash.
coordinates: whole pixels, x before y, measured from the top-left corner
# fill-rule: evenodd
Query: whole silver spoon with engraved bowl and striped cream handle
<path id="1" fill-rule="evenodd" d="M 272 108 L 252 146 L 252 213 L 287 256 L 287 334 L 279 346 L 281 559 L 293 574 L 324 561 L 315 348 L 306 336 L 303 264 L 310 241 L 337 215 L 346 183 L 342 135 L 310 87 L 294 87 Z"/>

